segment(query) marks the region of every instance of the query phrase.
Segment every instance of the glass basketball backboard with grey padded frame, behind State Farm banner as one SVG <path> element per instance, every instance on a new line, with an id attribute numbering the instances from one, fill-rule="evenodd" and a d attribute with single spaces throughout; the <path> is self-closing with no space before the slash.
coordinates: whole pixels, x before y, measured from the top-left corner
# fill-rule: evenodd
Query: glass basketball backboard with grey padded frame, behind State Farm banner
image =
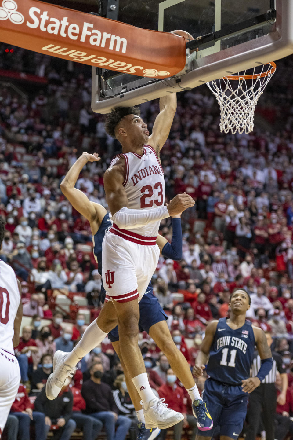
<path id="1" fill-rule="evenodd" d="M 119 0 L 118 19 L 165 32 L 182 29 L 195 41 L 187 44 L 184 70 L 167 80 L 93 68 L 92 107 L 99 113 L 190 89 L 293 52 L 293 0 Z"/>

